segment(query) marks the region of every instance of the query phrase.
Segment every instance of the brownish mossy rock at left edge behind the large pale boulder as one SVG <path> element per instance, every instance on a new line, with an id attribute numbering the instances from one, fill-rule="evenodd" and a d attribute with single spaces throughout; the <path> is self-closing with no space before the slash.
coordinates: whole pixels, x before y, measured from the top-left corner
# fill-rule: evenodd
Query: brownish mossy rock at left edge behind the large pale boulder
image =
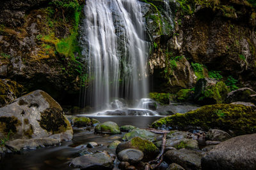
<path id="1" fill-rule="evenodd" d="M 9 79 L 0 79 L 0 107 L 22 96 L 24 87 Z"/>

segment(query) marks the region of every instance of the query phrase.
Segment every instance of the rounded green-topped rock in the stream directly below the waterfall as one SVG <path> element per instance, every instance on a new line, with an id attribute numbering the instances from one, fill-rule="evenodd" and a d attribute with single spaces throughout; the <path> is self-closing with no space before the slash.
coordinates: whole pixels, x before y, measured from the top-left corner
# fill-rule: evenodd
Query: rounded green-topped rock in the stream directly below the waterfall
<path id="1" fill-rule="evenodd" d="M 118 125 L 115 122 L 104 122 L 95 127 L 95 132 L 103 134 L 120 134 Z"/>

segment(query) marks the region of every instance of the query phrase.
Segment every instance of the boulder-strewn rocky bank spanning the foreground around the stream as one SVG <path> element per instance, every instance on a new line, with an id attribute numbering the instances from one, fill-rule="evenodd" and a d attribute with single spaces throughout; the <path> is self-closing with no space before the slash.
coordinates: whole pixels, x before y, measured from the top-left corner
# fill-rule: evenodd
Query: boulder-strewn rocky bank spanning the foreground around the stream
<path id="1" fill-rule="evenodd" d="M 68 160 L 67 166 L 81 169 L 255 169 L 256 165 L 253 152 L 256 116 L 250 106 L 203 106 L 156 120 L 151 125 L 156 129 L 140 129 L 133 125 L 119 127 L 118 122 L 64 115 L 56 101 L 36 90 L 0 108 L 0 113 L 1 136 L 5 140 L 1 144 L 1 157 L 4 153 L 58 146 L 63 140 L 72 139 L 72 131 L 90 131 L 109 136 L 108 142 L 91 141 L 77 152 L 79 157 Z M 245 135 L 237 136 L 240 134 Z"/>

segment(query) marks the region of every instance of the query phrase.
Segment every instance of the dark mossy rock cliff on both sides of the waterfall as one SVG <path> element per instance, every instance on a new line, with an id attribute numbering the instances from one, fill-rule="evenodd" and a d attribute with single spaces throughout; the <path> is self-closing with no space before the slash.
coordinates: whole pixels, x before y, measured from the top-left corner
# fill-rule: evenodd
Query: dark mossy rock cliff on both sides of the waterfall
<path id="1" fill-rule="evenodd" d="M 73 94 L 79 98 L 86 66 L 74 43 L 79 18 L 56 15 L 51 2 L 2 2 L 0 78 L 45 90 L 62 104 Z M 151 91 L 191 89 L 212 71 L 256 90 L 256 12 L 248 1 L 141 0 L 141 11 L 151 46 Z"/>

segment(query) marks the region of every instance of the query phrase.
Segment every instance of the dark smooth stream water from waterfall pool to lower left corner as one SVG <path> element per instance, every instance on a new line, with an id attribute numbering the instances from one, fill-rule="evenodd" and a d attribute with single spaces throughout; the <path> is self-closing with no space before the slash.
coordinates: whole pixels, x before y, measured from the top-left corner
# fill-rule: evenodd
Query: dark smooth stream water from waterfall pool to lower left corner
<path id="1" fill-rule="evenodd" d="M 116 122 L 119 127 L 122 125 L 134 125 L 140 128 L 147 128 L 154 120 L 161 117 L 109 116 L 93 118 L 97 118 L 100 122 Z M 7 153 L 0 161 L 0 169 L 77 169 L 68 166 L 68 164 L 72 159 L 80 156 L 79 152 L 83 152 L 83 150 L 88 150 L 89 152 L 107 150 L 110 153 L 115 153 L 115 150 L 109 149 L 107 146 L 122 136 L 124 136 L 124 133 L 116 135 L 94 134 L 93 129 L 74 129 L 72 141 L 64 141 L 60 146 L 28 150 L 21 154 Z M 92 141 L 102 146 L 88 149 L 86 145 Z"/>

